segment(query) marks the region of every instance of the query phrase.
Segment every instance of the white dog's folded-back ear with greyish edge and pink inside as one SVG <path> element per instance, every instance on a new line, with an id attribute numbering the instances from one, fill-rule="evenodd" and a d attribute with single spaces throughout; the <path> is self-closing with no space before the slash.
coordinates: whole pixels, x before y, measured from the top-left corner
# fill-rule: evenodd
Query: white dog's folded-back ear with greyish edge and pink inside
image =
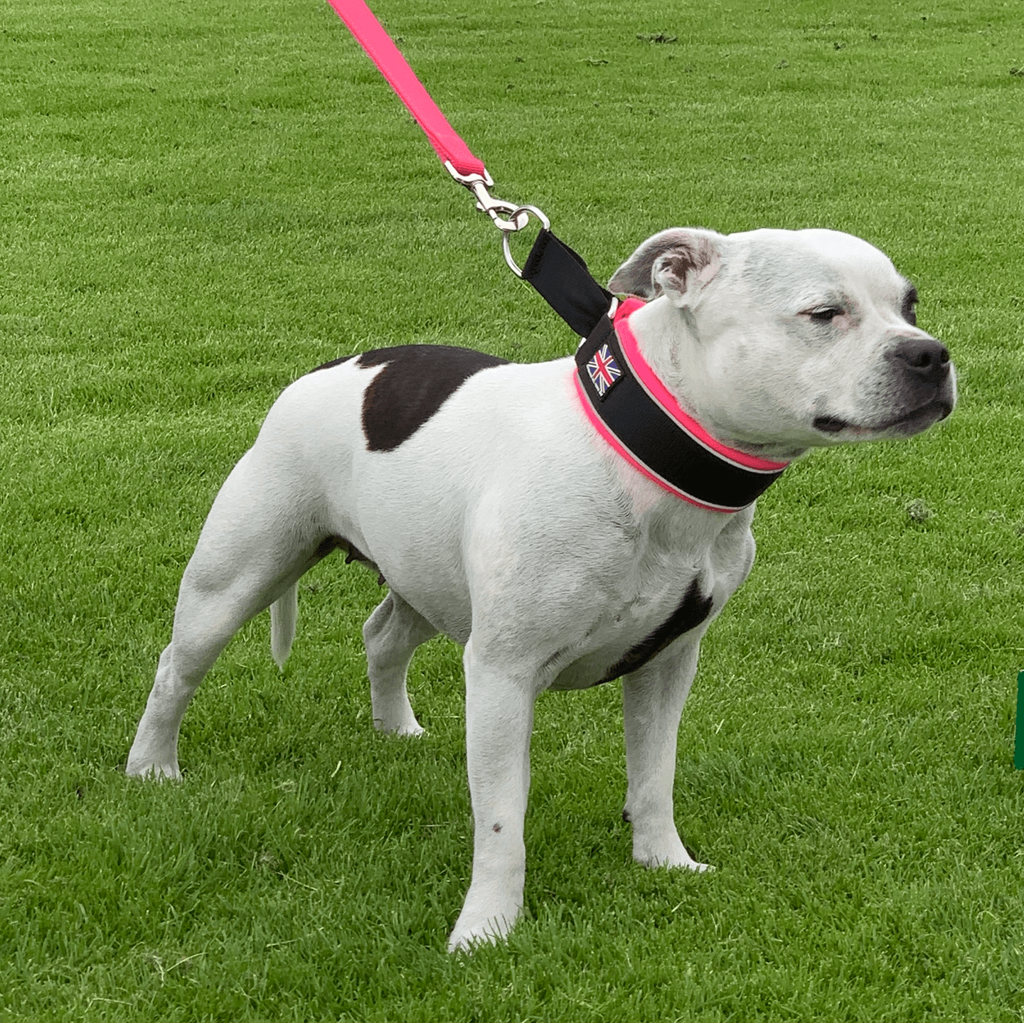
<path id="1" fill-rule="evenodd" d="M 663 230 L 615 270 L 608 289 L 641 298 L 665 294 L 674 305 L 689 305 L 722 264 L 721 238 L 715 231 L 689 227 Z"/>

